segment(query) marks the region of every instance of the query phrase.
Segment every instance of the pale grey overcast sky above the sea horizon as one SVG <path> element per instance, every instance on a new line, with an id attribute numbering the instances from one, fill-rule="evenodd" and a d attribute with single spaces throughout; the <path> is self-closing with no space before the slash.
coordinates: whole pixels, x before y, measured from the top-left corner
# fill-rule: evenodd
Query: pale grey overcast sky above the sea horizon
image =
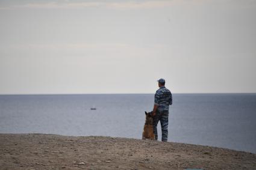
<path id="1" fill-rule="evenodd" d="M 0 94 L 256 93 L 256 1 L 1 1 Z"/>

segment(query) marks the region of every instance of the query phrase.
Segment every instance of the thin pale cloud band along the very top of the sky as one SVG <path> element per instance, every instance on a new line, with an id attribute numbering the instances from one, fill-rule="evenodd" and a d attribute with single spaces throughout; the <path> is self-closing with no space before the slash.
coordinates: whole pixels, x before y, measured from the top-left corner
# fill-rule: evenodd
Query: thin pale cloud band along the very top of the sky
<path id="1" fill-rule="evenodd" d="M 199 4 L 219 4 L 222 7 L 227 7 L 236 4 L 238 8 L 255 8 L 255 1 L 228 1 L 228 0 L 149 0 L 149 1 L 22 1 L 17 2 L 1 2 L 0 10 L 11 10 L 11 9 L 84 9 L 84 8 L 108 8 L 113 10 L 142 10 L 142 9 L 156 9 L 165 8 L 173 5 L 199 5 Z"/>

